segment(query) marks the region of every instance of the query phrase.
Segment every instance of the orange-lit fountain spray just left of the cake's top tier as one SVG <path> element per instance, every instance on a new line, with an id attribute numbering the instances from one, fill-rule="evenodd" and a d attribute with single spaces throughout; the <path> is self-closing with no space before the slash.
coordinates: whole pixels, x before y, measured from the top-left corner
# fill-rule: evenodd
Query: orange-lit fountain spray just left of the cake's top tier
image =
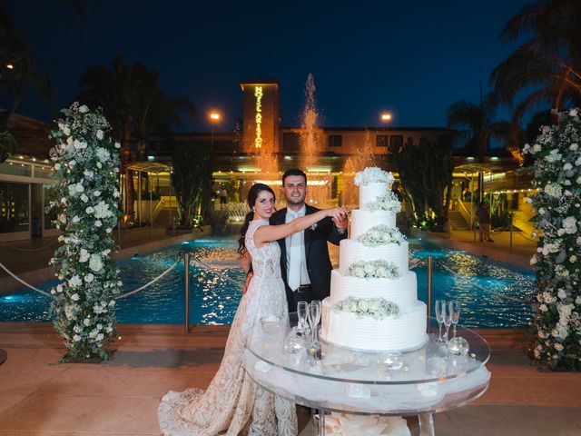
<path id="1" fill-rule="evenodd" d="M 343 189 L 341 190 L 340 203 L 343 207 L 351 209 L 359 204 L 359 187 L 355 186 L 355 173 L 368 166 L 379 166 L 378 158 L 374 154 L 375 147 L 369 130 L 365 130 L 363 146 L 356 147 L 355 153 L 345 161 L 343 166 Z"/>

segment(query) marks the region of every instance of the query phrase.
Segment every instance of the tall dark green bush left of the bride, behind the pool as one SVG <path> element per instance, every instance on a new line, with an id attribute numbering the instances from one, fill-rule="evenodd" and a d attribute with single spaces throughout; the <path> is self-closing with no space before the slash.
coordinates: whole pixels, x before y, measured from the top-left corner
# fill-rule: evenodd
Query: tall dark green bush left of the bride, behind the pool
<path id="1" fill-rule="evenodd" d="M 212 150 L 205 144 L 176 144 L 172 161 L 179 224 L 190 229 L 208 220 L 212 212 Z"/>

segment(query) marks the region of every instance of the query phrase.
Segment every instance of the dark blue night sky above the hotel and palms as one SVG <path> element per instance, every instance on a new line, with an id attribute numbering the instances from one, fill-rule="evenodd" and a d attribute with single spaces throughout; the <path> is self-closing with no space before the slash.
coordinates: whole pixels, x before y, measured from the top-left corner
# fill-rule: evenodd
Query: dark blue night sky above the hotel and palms
<path id="1" fill-rule="evenodd" d="M 284 125 L 299 124 L 312 73 L 325 125 L 443 126 L 449 104 L 478 102 L 479 82 L 515 45 L 498 34 L 525 0 L 415 2 L 208 2 L 87 0 L 85 20 L 57 0 L 7 0 L 39 70 L 50 74 L 55 104 L 70 103 L 78 79 L 113 54 L 160 73 L 168 95 L 199 109 L 191 130 L 208 130 L 206 112 L 222 111 L 216 130 L 241 117 L 239 82 L 277 78 Z M 26 100 L 21 114 L 50 120 Z M 181 129 L 183 130 L 183 129 Z"/>

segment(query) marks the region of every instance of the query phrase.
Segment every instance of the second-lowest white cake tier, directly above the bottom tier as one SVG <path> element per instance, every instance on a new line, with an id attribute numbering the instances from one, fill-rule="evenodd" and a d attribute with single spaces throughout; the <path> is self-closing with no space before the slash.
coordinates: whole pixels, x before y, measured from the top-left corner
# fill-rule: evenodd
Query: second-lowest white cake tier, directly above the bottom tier
<path id="1" fill-rule="evenodd" d="M 335 304 L 348 297 L 381 297 L 404 309 L 418 301 L 418 278 L 412 271 L 405 272 L 398 279 L 361 279 L 333 270 L 330 273 L 330 303 Z"/>

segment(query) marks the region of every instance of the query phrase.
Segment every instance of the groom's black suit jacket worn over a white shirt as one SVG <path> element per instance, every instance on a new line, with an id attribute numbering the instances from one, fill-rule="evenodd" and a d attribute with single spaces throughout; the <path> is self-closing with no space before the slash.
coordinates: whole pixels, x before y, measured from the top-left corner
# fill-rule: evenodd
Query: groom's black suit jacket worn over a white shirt
<path id="1" fill-rule="evenodd" d="M 306 215 L 319 211 L 316 207 L 306 204 Z M 286 221 L 287 209 L 281 209 L 271 216 L 271 224 L 284 224 Z M 314 230 L 311 228 L 305 229 L 305 259 L 307 263 L 307 272 L 309 273 L 311 292 L 310 295 L 304 295 L 304 299 L 308 302 L 311 300 L 322 301 L 330 293 L 330 272 L 333 266 L 330 263 L 329 249 L 327 241 L 339 245 L 342 239 L 347 237 L 347 231 L 340 233 L 335 227 L 333 221 L 327 217 L 320 220 L 316 224 Z M 287 245 L 284 239 L 279 240 L 281 245 L 281 275 L 284 281 L 284 286 L 287 292 L 287 302 L 289 303 L 289 312 L 297 311 L 297 299 L 293 295 L 289 287 L 289 280 L 287 278 Z"/>

